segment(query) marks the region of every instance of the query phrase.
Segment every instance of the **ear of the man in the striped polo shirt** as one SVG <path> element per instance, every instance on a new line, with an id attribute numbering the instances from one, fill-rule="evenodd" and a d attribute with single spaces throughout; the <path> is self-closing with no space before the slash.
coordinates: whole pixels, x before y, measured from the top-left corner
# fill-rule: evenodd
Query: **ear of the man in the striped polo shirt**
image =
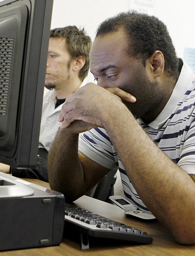
<path id="1" fill-rule="evenodd" d="M 153 55 L 147 59 L 146 66 L 148 67 L 150 75 L 154 78 L 162 76 L 165 66 L 163 53 L 161 51 L 155 51 Z"/>

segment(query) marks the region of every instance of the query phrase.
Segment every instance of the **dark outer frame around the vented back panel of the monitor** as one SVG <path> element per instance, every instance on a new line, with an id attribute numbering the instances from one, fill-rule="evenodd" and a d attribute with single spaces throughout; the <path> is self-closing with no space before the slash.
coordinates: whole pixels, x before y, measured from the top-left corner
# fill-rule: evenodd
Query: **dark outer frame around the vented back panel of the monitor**
<path id="1" fill-rule="evenodd" d="M 0 2 L 0 10 L 17 5 L 28 8 L 15 141 L 11 149 L 0 148 L 0 162 L 15 167 L 33 167 L 37 163 L 52 3 L 53 0 Z"/>

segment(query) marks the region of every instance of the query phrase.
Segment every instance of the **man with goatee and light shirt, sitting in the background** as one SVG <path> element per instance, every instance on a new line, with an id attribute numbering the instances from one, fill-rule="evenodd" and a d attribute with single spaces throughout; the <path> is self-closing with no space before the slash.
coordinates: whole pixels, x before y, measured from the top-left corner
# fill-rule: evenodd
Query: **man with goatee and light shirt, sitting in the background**
<path id="1" fill-rule="evenodd" d="M 0 171 L 15 177 L 35 178 L 48 182 L 47 152 L 59 128 L 57 118 L 67 95 L 77 90 L 89 70 L 92 41 L 84 29 L 76 26 L 50 31 L 37 166 L 35 169 L 16 169 L 0 164 Z"/>

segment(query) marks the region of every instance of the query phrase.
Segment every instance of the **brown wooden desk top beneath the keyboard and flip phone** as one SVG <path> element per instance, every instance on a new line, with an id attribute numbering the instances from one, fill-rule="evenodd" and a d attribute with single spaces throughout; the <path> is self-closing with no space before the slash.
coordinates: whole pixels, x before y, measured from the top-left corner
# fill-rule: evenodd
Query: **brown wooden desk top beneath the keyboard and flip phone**
<path id="1" fill-rule="evenodd" d="M 34 180 L 27 179 L 29 182 L 41 185 L 43 187 L 49 188 L 49 184 Z M 107 218 L 117 220 L 119 222 L 125 223 L 135 228 L 147 231 L 150 236 L 153 236 L 153 243 L 149 245 L 128 245 L 128 243 L 109 243 L 102 244 L 96 243 L 92 244 L 88 250 L 82 251 L 80 249 L 80 244 L 63 238 L 60 246 L 50 246 L 42 248 L 30 248 L 15 251 L 4 251 L 0 252 L 0 256 L 111 256 L 111 255 L 141 255 L 141 256 L 195 256 L 195 246 L 181 246 L 174 241 L 173 236 L 170 232 L 163 227 L 158 221 L 155 222 L 141 222 L 134 220 L 128 216 L 125 216 L 125 212 L 115 205 L 111 205 L 99 200 L 95 200 L 91 197 L 83 196 L 76 200 L 75 205 L 82 207 L 86 210 L 90 210 L 97 214 L 103 215 Z"/>

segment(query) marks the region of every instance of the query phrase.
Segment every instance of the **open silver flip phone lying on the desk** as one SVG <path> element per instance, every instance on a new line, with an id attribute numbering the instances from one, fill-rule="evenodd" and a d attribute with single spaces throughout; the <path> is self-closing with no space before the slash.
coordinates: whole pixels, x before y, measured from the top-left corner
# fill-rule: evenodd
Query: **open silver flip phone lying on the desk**
<path id="1" fill-rule="evenodd" d="M 132 202 L 122 196 L 114 195 L 110 196 L 109 198 L 117 206 L 125 210 L 126 215 L 131 215 L 143 220 L 155 220 L 155 216 L 152 213 L 138 210 L 138 207 L 136 205 L 134 205 Z"/>

